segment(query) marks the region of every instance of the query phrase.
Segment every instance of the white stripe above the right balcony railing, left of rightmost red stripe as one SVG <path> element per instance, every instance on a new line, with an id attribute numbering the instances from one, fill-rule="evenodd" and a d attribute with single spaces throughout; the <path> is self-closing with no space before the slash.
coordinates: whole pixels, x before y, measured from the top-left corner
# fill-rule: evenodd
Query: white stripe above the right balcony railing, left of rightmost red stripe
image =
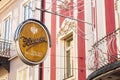
<path id="1" fill-rule="evenodd" d="M 105 0 L 96 0 L 98 40 L 106 35 Z"/>

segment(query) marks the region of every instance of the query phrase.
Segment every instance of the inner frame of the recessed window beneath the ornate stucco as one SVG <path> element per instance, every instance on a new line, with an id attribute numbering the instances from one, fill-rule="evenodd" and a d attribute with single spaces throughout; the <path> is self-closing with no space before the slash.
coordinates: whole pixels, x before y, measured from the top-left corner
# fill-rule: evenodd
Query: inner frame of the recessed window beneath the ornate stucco
<path id="1" fill-rule="evenodd" d="M 72 41 L 72 45 L 70 46 L 67 46 L 68 44 L 70 44 L 70 42 Z M 65 66 L 65 70 L 64 70 L 64 77 L 65 79 L 69 79 L 71 77 L 74 77 L 74 57 L 73 57 L 73 35 L 70 35 L 69 37 L 67 37 L 66 39 L 64 39 L 64 46 L 65 46 L 65 49 L 64 49 L 64 56 L 65 56 L 65 59 L 64 59 L 64 66 Z M 71 52 L 72 50 L 72 52 Z M 67 54 L 68 54 L 68 51 L 70 51 L 70 69 L 68 69 L 67 65 L 68 65 L 68 61 L 67 61 Z M 67 71 L 70 70 L 70 73 L 68 73 Z M 70 76 L 68 76 L 70 75 Z"/>

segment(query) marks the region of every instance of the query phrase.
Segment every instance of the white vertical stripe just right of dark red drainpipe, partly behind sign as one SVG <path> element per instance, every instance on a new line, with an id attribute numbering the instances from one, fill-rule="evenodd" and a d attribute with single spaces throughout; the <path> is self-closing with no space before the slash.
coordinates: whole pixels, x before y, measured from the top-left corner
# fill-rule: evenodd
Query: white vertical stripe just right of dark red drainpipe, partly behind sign
<path id="1" fill-rule="evenodd" d="M 45 8 L 48 9 L 51 6 L 52 1 L 46 0 Z M 51 11 L 51 8 L 49 9 Z M 51 33 L 51 14 L 45 13 L 45 25 L 48 28 L 49 32 Z M 44 61 L 44 80 L 50 80 L 50 49 L 48 50 L 48 56 Z"/>

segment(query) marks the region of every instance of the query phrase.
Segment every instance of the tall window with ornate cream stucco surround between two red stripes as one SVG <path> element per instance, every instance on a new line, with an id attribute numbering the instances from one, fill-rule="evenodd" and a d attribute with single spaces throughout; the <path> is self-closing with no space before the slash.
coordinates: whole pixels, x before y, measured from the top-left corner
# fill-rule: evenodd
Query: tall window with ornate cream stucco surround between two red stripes
<path id="1" fill-rule="evenodd" d="M 71 25 L 73 23 L 73 25 Z M 77 58 L 77 35 L 74 32 L 77 24 L 73 20 L 65 19 L 58 32 L 58 50 L 57 55 L 60 57 L 60 67 L 64 67 L 64 70 L 60 72 L 61 79 L 63 80 L 76 80 L 75 69 L 77 68 L 78 62 L 75 61 Z M 74 30 L 73 30 L 74 29 Z"/>

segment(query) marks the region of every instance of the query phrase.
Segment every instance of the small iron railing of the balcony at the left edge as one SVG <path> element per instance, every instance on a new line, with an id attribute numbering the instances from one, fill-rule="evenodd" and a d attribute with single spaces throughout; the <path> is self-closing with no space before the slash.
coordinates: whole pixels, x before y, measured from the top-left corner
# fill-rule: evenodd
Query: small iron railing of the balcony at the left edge
<path id="1" fill-rule="evenodd" d="M 0 40 L 0 57 L 10 58 L 10 45 L 11 43 L 5 40 Z"/>

